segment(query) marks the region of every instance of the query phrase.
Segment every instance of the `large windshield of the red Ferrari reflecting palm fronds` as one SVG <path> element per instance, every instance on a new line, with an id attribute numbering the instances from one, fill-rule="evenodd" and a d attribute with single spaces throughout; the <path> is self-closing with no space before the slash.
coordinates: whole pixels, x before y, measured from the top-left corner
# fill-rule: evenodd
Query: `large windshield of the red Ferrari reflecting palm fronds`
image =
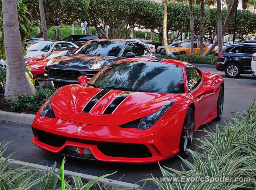
<path id="1" fill-rule="evenodd" d="M 182 68 L 159 62 L 117 62 L 96 74 L 90 84 L 119 90 L 184 93 Z"/>

